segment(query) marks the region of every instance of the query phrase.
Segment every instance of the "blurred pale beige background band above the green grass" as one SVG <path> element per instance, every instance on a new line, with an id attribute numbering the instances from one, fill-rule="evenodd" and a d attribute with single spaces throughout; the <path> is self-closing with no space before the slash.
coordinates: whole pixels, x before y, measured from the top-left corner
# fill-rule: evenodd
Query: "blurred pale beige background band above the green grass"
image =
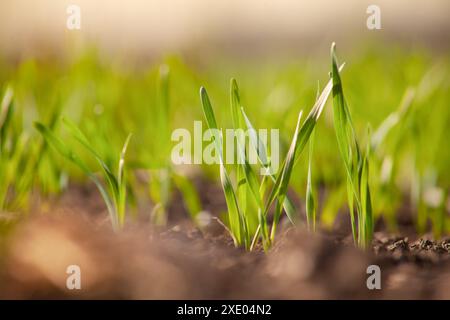
<path id="1" fill-rule="evenodd" d="M 81 30 L 66 28 L 70 4 L 81 9 Z M 366 27 L 371 4 L 381 9 L 381 30 Z M 253 56 L 382 38 L 444 50 L 449 12 L 447 0 L 3 0 L 0 49 L 13 58 L 86 45 L 127 57 L 197 50 Z"/>

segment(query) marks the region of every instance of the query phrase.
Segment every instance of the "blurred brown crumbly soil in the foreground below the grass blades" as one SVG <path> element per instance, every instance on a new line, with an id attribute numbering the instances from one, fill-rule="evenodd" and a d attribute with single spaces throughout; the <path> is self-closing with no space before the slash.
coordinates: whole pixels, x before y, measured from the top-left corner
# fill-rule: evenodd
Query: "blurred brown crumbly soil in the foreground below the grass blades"
<path id="1" fill-rule="evenodd" d="M 222 208 L 220 188 L 204 188 L 205 207 Z M 450 299 L 450 238 L 380 230 L 364 252 L 348 234 L 300 226 L 282 229 L 266 254 L 235 248 L 215 219 L 200 231 L 179 212 L 167 227 L 140 216 L 114 233 L 90 189 L 44 211 L 16 221 L 2 244 L 1 299 Z M 69 265 L 81 268 L 81 290 L 66 288 Z M 370 265 L 381 290 L 367 288 Z"/>

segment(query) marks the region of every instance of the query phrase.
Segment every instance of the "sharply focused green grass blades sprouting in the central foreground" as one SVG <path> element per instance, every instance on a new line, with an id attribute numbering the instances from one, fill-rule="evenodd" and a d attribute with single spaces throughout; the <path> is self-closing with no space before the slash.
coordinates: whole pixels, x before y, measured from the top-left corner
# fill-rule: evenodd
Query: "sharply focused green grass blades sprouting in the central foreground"
<path id="1" fill-rule="evenodd" d="M 331 55 L 331 79 L 322 93 L 318 94 L 316 103 L 304 121 L 302 121 L 303 111 L 300 111 L 292 142 L 280 172 L 277 175 L 268 175 L 270 178 L 267 179 L 267 176 L 264 176 L 264 178 L 259 181 L 257 174 L 249 165 L 247 159 L 248 152 L 245 150 L 245 144 L 242 142 L 238 143 L 238 149 L 240 150 L 238 150 L 237 154 L 238 157 L 241 157 L 243 160 L 238 161 L 240 165 L 235 168 L 237 187 L 233 187 L 224 162 L 220 162 L 220 178 L 228 206 L 229 232 L 236 245 L 242 245 L 245 248 L 252 250 L 260 238 L 264 249 L 267 250 L 270 248 L 275 239 L 276 228 L 283 210 L 289 220 L 293 224 L 295 223 L 296 209 L 294 208 L 292 201 L 287 197 L 287 191 L 293 167 L 298 162 L 298 159 L 308 142 L 310 144 L 310 150 L 306 188 L 306 215 L 308 228 L 310 230 L 315 229 L 314 195 L 311 178 L 313 139 L 311 139 L 311 135 L 314 132 L 314 127 L 320 118 L 331 92 L 333 93 L 336 137 L 339 151 L 341 152 L 347 172 L 348 206 L 350 210 L 353 238 L 355 243 L 362 248 L 365 248 L 370 244 L 373 235 L 373 215 L 369 190 L 369 147 L 367 147 L 365 154 L 362 154 L 352 125 L 350 111 L 348 110 L 344 99 L 339 68 L 335 57 L 334 44 L 331 48 Z M 234 128 L 240 129 L 242 124 L 245 123 L 248 130 L 253 132 L 253 134 L 250 134 L 251 146 L 256 150 L 261 166 L 269 170 L 270 159 L 267 159 L 267 146 L 258 139 L 253 125 L 240 105 L 238 86 L 234 79 L 231 80 L 230 92 Z M 210 129 L 217 129 L 214 112 L 206 90 L 203 87 L 200 89 L 200 97 L 208 127 Z M 217 153 L 222 157 L 223 146 L 221 137 L 215 138 Z M 251 195 L 250 198 L 254 202 L 253 207 L 249 206 L 247 203 L 248 194 Z M 272 222 L 270 224 L 268 223 L 268 216 L 272 206 L 274 206 L 275 209 L 272 213 Z M 257 221 L 256 228 L 252 225 L 252 222 L 254 221 Z"/>

